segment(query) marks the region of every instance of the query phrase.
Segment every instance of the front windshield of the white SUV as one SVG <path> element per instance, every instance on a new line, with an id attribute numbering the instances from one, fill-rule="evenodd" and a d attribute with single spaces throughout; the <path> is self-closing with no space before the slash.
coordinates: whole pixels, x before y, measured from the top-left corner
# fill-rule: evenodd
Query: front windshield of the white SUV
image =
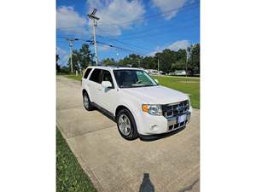
<path id="1" fill-rule="evenodd" d="M 143 70 L 113 70 L 114 77 L 120 88 L 133 88 L 158 85 Z"/>

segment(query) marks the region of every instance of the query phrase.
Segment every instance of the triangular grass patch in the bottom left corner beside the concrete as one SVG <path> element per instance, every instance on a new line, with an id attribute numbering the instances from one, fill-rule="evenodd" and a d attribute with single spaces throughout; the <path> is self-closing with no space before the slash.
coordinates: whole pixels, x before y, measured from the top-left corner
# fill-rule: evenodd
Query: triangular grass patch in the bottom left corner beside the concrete
<path id="1" fill-rule="evenodd" d="M 56 129 L 56 191 L 96 191 L 58 129 Z"/>

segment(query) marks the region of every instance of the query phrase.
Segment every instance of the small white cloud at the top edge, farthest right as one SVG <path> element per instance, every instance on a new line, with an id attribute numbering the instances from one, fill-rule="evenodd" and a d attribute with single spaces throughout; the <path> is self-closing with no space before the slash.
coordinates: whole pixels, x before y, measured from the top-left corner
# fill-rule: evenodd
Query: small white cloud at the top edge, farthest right
<path id="1" fill-rule="evenodd" d="M 177 15 L 178 9 L 183 7 L 186 0 L 152 0 L 152 3 L 164 13 L 166 20 L 170 20 Z M 169 11 L 172 9 L 173 11 Z"/>

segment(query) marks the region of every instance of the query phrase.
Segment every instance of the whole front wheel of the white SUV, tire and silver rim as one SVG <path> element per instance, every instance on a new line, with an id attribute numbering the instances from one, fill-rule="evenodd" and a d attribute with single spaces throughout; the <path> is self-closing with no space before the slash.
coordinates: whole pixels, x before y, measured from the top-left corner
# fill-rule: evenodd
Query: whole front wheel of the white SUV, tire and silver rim
<path id="1" fill-rule="evenodd" d="M 117 115 L 117 125 L 119 133 L 126 140 L 133 140 L 138 137 L 137 126 L 131 112 L 127 109 L 122 109 Z"/>

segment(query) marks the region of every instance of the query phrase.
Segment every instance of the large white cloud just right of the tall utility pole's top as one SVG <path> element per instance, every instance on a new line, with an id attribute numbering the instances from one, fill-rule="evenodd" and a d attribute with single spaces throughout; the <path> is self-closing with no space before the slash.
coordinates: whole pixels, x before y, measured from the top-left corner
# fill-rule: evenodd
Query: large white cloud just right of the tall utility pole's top
<path id="1" fill-rule="evenodd" d="M 143 3 L 138 0 L 89 0 L 87 4 L 90 8 L 97 9 L 96 16 L 100 20 L 96 30 L 102 36 L 121 35 L 123 29 L 139 23 L 138 19 L 142 19 L 145 13 Z M 127 22 L 130 20 L 137 21 Z"/>

